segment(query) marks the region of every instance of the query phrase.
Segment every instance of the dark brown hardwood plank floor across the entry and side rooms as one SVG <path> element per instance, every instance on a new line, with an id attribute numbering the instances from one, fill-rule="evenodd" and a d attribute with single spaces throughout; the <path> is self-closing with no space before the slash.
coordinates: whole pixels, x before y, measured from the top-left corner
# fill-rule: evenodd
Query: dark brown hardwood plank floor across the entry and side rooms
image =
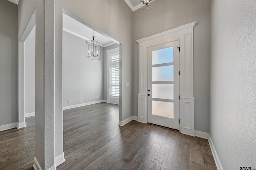
<path id="1" fill-rule="evenodd" d="M 118 126 L 114 104 L 64 110 L 64 154 L 58 170 L 217 170 L 206 139 L 131 121 Z M 0 132 L 0 169 L 33 170 L 34 116 Z"/>

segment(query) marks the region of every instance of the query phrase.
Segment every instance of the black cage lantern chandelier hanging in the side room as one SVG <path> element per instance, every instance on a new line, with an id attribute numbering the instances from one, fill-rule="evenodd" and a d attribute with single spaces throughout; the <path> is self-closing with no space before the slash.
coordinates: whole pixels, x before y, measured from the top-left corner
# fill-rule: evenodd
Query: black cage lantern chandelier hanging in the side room
<path id="1" fill-rule="evenodd" d="M 100 60 L 100 42 L 94 40 L 94 31 L 92 40 L 86 41 L 86 57 L 90 60 Z M 88 53 L 87 53 L 88 52 Z"/>

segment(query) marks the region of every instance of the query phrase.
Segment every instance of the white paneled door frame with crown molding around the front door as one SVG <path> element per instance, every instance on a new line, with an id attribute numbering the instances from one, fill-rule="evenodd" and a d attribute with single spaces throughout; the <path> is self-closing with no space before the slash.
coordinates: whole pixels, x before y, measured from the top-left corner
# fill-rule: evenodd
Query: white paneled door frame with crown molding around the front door
<path id="1" fill-rule="evenodd" d="M 196 21 L 137 40 L 139 43 L 138 121 L 148 123 L 148 47 L 180 41 L 180 132 L 194 136 L 193 28 Z"/>

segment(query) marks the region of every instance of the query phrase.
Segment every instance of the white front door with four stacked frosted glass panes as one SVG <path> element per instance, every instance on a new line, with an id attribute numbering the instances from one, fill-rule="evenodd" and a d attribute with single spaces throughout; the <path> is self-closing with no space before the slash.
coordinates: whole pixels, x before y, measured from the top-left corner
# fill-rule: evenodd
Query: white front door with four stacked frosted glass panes
<path id="1" fill-rule="evenodd" d="M 179 41 L 148 47 L 148 123 L 180 129 Z"/>

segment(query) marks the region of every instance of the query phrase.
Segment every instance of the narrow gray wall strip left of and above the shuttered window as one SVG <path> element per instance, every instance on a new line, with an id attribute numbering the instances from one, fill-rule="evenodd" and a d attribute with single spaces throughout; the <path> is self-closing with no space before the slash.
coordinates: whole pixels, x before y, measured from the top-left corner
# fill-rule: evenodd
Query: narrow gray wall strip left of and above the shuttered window
<path id="1" fill-rule="evenodd" d="M 107 88 L 108 88 L 108 50 L 118 48 L 119 44 L 113 44 L 108 47 L 104 47 L 104 69 L 103 69 L 103 75 L 104 75 L 104 80 L 103 80 L 103 100 L 107 100 Z"/>

